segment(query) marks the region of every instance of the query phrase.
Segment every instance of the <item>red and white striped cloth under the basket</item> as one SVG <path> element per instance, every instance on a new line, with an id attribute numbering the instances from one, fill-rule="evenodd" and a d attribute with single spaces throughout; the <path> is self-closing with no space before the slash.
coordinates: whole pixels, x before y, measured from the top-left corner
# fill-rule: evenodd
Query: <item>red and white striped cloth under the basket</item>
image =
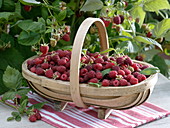
<path id="1" fill-rule="evenodd" d="M 145 102 L 128 110 L 113 110 L 107 119 L 102 120 L 97 118 L 95 107 L 82 109 L 68 103 L 62 112 L 57 112 L 54 110 L 53 102 L 35 93 L 28 93 L 28 97 L 29 105 L 47 102 L 40 110 L 42 121 L 57 128 L 133 128 L 170 114 L 167 110 Z"/>

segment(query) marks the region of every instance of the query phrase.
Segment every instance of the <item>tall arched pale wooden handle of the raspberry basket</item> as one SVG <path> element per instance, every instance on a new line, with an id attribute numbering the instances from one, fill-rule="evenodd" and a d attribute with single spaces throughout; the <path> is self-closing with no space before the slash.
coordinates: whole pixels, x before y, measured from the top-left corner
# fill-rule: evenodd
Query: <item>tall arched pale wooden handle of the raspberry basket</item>
<path id="1" fill-rule="evenodd" d="M 109 48 L 107 31 L 103 21 L 99 18 L 87 18 L 80 25 L 77 34 L 74 39 L 72 55 L 71 55 L 71 66 L 70 66 L 70 91 L 73 102 L 78 107 L 87 108 L 83 103 L 80 96 L 79 89 L 79 68 L 80 68 L 80 57 L 84 43 L 85 36 L 92 24 L 95 24 L 98 28 L 98 34 L 100 38 L 101 51 Z"/>

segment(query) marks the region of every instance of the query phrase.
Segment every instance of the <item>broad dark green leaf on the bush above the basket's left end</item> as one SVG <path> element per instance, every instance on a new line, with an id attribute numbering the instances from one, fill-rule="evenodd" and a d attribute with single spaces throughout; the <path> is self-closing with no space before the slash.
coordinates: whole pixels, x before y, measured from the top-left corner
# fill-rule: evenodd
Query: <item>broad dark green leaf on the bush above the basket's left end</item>
<path id="1" fill-rule="evenodd" d="M 18 43 L 25 46 L 37 44 L 41 39 L 39 33 L 22 31 L 18 37 Z"/>

